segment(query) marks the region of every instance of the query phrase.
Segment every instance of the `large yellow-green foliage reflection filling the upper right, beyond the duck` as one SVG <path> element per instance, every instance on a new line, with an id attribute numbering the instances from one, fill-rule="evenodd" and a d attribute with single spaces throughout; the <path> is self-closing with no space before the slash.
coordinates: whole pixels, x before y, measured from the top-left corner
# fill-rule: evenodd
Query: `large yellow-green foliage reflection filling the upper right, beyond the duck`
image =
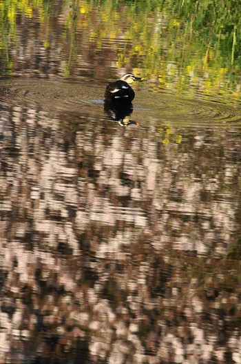
<path id="1" fill-rule="evenodd" d="M 239 97 L 241 5 L 232 1 L 85 1 L 77 28 L 96 50 L 113 41 L 118 68 L 145 72 L 153 88 Z M 85 33 L 86 36 L 86 33 Z M 120 41 L 121 40 L 121 41 Z"/>

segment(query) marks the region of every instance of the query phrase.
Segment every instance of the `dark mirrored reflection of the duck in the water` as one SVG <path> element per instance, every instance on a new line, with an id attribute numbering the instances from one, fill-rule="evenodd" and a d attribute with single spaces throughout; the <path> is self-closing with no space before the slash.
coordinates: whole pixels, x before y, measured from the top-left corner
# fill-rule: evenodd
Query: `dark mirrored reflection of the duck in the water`
<path id="1" fill-rule="evenodd" d="M 134 122 L 134 120 L 129 119 L 133 112 L 132 103 L 123 104 L 105 100 L 104 111 L 108 115 L 109 119 L 112 119 L 114 122 L 118 122 L 121 126 L 139 125 L 138 122 Z"/>

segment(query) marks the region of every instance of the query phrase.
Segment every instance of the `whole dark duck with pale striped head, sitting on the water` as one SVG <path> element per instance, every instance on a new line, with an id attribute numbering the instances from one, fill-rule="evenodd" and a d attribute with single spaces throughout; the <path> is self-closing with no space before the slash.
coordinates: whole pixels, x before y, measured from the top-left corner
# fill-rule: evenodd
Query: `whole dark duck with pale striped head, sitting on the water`
<path id="1" fill-rule="evenodd" d="M 133 73 L 126 73 L 116 82 L 111 82 L 105 89 L 105 102 L 131 103 L 135 93 L 129 85 L 134 81 L 143 81 L 143 78 L 136 77 Z"/>

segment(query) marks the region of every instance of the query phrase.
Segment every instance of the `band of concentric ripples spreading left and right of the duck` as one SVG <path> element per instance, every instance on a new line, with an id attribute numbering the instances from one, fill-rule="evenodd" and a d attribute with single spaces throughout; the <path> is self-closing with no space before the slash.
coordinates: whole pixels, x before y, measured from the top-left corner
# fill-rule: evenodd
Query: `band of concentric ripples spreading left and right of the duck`
<path id="1" fill-rule="evenodd" d="M 134 99 L 135 117 L 145 122 L 172 122 L 198 125 L 236 124 L 241 126 L 239 104 L 222 99 L 180 99 L 166 93 L 152 93 L 147 85 L 138 86 Z M 1 79 L 2 106 L 41 108 L 45 111 L 98 114 L 105 84 L 65 82 L 48 79 Z"/>

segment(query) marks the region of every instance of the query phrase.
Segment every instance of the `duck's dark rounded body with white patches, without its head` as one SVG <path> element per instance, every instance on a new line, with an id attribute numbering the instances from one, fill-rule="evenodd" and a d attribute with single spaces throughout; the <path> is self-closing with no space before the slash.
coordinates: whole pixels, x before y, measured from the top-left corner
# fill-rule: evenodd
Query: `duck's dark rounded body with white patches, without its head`
<path id="1" fill-rule="evenodd" d="M 118 79 L 109 84 L 105 90 L 105 100 L 118 103 L 131 103 L 135 97 L 134 90 L 127 82 Z"/>

